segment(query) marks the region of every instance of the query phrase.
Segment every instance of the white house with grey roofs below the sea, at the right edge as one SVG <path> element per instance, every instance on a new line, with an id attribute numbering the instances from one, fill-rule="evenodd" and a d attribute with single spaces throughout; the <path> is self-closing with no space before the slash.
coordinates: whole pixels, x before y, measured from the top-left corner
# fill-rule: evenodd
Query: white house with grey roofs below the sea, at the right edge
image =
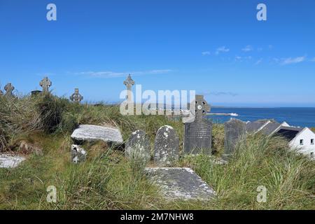
<path id="1" fill-rule="evenodd" d="M 286 122 L 277 123 L 275 120 L 255 120 L 246 123 L 246 132 L 248 134 L 261 132 L 268 136 L 280 135 L 288 139 L 290 148 L 296 148 L 300 153 L 314 158 L 315 133 L 308 127 L 292 127 Z"/>

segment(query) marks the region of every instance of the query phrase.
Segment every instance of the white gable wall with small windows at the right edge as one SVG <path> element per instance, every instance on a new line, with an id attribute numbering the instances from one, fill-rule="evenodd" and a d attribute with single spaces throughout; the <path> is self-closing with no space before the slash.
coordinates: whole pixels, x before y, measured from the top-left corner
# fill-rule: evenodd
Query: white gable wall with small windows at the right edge
<path id="1" fill-rule="evenodd" d="M 303 145 L 300 144 L 300 140 L 303 140 Z M 311 139 L 313 140 L 313 144 L 311 144 Z M 305 127 L 295 139 L 290 141 L 290 146 L 292 148 L 297 148 L 300 153 L 304 155 L 314 155 L 315 158 L 315 133 L 309 130 L 309 128 Z"/>

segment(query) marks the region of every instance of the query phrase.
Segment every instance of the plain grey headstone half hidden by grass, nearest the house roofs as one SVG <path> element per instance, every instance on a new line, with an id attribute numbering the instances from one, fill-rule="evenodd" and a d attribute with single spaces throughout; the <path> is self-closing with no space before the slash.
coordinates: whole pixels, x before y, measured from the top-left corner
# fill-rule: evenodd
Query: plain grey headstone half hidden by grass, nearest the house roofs
<path id="1" fill-rule="evenodd" d="M 231 118 L 228 122 L 224 124 L 224 159 L 228 157 L 235 151 L 237 142 L 245 136 L 246 134 L 246 123 L 241 120 Z"/>

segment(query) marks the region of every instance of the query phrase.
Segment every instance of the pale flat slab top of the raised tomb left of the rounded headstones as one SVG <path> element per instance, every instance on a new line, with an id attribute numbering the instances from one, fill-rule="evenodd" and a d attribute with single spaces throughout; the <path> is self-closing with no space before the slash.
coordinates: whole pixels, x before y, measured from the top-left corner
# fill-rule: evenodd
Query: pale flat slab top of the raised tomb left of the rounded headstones
<path id="1" fill-rule="evenodd" d="M 72 139 L 77 141 L 98 141 L 113 142 L 116 144 L 123 143 L 123 137 L 120 130 L 114 127 L 104 127 L 97 125 L 80 125 L 71 134 Z"/>

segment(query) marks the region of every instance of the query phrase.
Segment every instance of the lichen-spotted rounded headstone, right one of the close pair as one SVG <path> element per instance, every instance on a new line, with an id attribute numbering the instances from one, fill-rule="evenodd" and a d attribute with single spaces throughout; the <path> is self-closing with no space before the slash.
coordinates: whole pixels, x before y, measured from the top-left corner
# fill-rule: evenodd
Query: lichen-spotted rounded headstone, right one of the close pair
<path id="1" fill-rule="evenodd" d="M 179 160 L 179 137 L 173 127 L 160 127 L 155 137 L 154 163 L 158 167 L 176 164 Z"/>

